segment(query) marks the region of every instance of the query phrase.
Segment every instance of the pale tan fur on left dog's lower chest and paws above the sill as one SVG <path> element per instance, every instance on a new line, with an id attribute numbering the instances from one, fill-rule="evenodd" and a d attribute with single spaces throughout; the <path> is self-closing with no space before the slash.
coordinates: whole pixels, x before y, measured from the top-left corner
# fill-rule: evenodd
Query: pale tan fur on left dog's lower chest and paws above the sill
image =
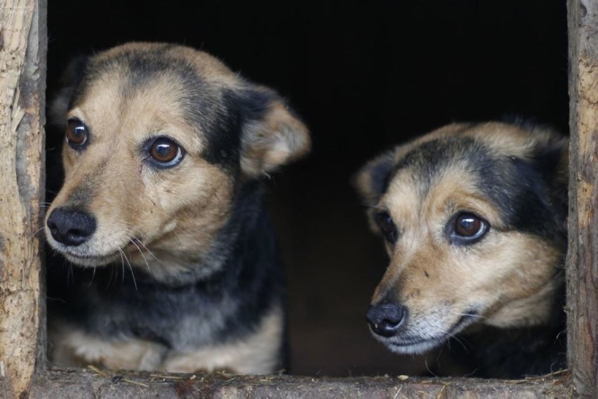
<path id="1" fill-rule="evenodd" d="M 109 369 L 164 372 L 227 369 L 238 374 L 267 374 L 279 361 L 277 349 L 282 344 L 282 317 L 282 310 L 274 308 L 255 332 L 243 339 L 188 353 L 168 351 L 165 346 L 142 339 L 115 337 L 106 341 L 58 322 L 53 323 L 51 330 L 54 337 L 51 356 L 57 367 L 98 365 Z"/>

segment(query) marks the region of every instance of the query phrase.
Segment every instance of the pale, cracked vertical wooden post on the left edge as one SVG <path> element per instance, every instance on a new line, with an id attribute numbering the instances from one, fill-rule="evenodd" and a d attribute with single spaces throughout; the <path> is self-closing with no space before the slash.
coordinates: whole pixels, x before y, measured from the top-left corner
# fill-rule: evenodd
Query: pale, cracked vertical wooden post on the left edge
<path id="1" fill-rule="evenodd" d="M 31 384 L 44 323 L 40 296 L 44 198 L 46 0 L 0 1 L 0 378 Z M 11 393 L 3 392 L 3 397 Z M 6 395 L 6 396 L 4 396 Z"/>

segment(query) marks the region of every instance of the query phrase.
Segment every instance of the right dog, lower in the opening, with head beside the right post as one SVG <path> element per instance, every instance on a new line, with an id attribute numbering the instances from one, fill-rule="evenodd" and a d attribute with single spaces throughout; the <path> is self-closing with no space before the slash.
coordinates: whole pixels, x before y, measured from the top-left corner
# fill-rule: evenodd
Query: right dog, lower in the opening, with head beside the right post
<path id="1" fill-rule="evenodd" d="M 488 122 L 368 162 L 354 183 L 390 256 L 366 313 L 373 336 L 394 353 L 448 347 L 433 374 L 566 367 L 568 157 L 551 129 Z"/>

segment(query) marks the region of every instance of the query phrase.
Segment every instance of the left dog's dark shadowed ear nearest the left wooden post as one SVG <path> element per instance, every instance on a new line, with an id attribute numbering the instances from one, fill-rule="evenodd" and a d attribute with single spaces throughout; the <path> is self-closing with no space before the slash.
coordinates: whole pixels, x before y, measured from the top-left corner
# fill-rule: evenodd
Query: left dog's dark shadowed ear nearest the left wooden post
<path id="1" fill-rule="evenodd" d="M 64 127 L 67 123 L 66 115 L 69 110 L 73 94 L 84 75 L 89 58 L 79 55 L 70 61 L 60 79 L 60 89 L 51 103 L 49 115 L 50 123 L 57 127 Z"/>

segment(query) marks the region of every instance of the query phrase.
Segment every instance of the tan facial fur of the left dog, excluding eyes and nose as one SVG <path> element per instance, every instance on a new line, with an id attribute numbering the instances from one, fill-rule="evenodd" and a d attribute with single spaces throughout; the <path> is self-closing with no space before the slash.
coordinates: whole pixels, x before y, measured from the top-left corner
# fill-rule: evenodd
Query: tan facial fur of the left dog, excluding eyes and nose
<path id="1" fill-rule="evenodd" d="M 119 249 L 123 249 L 133 266 L 149 268 L 159 279 L 177 271 L 176 259 L 182 251 L 209 248 L 211 237 L 226 220 L 232 187 L 223 171 L 193 156 L 201 153 L 205 144 L 199 135 L 189 134 L 194 126 L 185 124 L 175 106 L 176 84 L 157 81 L 125 101 L 119 99 L 118 83 L 124 72 L 113 73 L 92 86 L 87 99 L 67 115 L 93 129 L 94 149 L 80 156 L 65 145 L 65 185 L 48 214 L 72 202 L 72 193 L 84 187 L 93 193 L 89 209 L 101 216 L 98 232 L 88 244 L 98 261 L 86 259 L 88 266 L 108 259 L 118 261 Z M 185 167 L 157 174 L 139 166 L 140 159 L 132 149 L 153 131 L 168 131 L 185 147 Z M 188 236 L 193 239 L 185 240 Z M 199 242 L 204 247 L 197 247 L 197 237 L 203 237 Z M 147 254 L 146 248 L 154 256 Z M 171 248 L 176 254 L 170 254 Z M 80 259 L 71 260 L 81 263 Z"/>

